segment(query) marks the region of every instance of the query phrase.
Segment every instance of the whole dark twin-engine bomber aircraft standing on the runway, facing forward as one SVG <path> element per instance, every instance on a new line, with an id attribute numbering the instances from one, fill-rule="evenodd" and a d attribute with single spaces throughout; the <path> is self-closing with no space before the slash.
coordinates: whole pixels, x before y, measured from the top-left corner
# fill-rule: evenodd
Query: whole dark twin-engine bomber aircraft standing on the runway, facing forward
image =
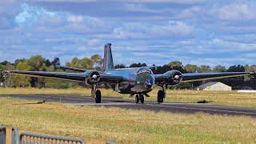
<path id="1" fill-rule="evenodd" d="M 23 71 L 7 70 L 6 74 L 22 74 L 30 77 L 56 78 L 73 82 L 83 83 L 91 86 L 91 96 L 96 103 L 102 102 L 101 91 L 98 86 L 102 83 L 113 86 L 113 90 L 121 94 L 135 95 L 136 103 L 144 103 L 144 96 L 149 97 L 149 92 L 156 86 L 158 90 L 159 103 L 166 98 L 166 87 L 178 85 L 181 82 L 194 82 L 217 78 L 231 78 L 250 75 L 250 72 L 225 72 L 225 73 L 190 73 L 182 74 L 178 70 L 170 70 L 164 74 L 153 74 L 150 66 L 114 69 L 114 62 L 111 53 L 111 43 L 104 47 L 103 70 L 84 70 L 73 67 L 58 66 L 66 70 L 74 70 L 79 73 L 46 72 L 46 71 Z"/>

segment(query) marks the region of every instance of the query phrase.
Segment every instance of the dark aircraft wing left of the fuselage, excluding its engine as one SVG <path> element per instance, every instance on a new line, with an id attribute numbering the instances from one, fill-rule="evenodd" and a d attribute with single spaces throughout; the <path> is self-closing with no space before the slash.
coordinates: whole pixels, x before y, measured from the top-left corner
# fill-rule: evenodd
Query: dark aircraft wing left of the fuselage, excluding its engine
<path id="1" fill-rule="evenodd" d="M 36 78 L 54 78 L 73 82 L 85 82 L 86 78 L 90 77 L 90 73 L 63 73 L 63 72 L 47 72 L 47 71 L 23 71 L 23 70 L 6 70 L 7 74 L 18 74 Z M 99 82 L 124 82 L 126 78 L 110 75 L 100 74 Z"/>

